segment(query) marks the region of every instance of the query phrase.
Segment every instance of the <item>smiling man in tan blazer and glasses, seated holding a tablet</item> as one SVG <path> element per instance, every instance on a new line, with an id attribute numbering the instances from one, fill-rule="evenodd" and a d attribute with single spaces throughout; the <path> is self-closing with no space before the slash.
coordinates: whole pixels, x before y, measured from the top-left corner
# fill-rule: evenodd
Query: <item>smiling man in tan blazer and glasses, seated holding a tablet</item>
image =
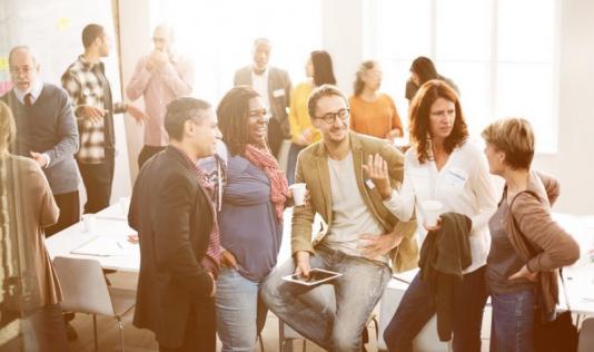
<path id="1" fill-rule="evenodd" d="M 347 99 L 334 86 L 314 89 L 308 110 L 321 140 L 300 151 L 295 182 L 306 184 L 309 202 L 293 211 L 293 260 L 268 276 L 260 294 L 308 340 L 328 351 L 358 352 L 392 270 L 417 263 L 416 223 L 398 221 L 387 202 L 403 180 L 404 156 L 387 140 L 349 131 Z M 311 242 L 316 214 L 323 228 Z M 343 274 L 330 281 L 336 311 L 324 297 L 304 297 L 310 286 L 283 280 L 307 277 L 313 268 Z"/>

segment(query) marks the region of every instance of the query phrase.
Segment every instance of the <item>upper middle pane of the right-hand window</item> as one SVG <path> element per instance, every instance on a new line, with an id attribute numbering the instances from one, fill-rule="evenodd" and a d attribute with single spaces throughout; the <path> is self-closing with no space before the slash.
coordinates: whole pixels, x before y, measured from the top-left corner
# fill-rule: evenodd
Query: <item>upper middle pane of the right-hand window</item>
<path id="1" fill-rule="evenodd" d="M 438 60 L 489 60 L 492 2 L 436 1 Z"/>

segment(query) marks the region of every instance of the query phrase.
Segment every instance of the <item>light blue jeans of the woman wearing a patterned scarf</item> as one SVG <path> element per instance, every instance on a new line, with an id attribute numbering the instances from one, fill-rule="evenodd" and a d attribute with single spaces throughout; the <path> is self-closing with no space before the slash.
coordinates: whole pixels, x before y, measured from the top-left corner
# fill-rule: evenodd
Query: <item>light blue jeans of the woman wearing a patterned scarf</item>
<path id="1" fill-rule="evenodd" d="M 234 268 L 222 267 L 217 278 L 217 333 L 222 351 L 254 351 L 266 322 L 267 309 L 258 299 L 260 283 Z"/>

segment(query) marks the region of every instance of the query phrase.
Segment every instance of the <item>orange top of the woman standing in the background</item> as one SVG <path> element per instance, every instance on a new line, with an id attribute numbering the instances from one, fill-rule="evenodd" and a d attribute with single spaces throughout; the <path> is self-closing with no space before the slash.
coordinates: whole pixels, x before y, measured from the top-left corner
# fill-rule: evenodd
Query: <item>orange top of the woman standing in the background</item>
<path id="1" fill-rule="evenodd" d="M 395 128 L 403 130 L 403 123 L 396 110 L 396 105 L 385 94 L 379 99 L 367 101 L 360 97 L 350 97 L 350 129 L 356 133 L 386 139 L 388 133 Z"/>

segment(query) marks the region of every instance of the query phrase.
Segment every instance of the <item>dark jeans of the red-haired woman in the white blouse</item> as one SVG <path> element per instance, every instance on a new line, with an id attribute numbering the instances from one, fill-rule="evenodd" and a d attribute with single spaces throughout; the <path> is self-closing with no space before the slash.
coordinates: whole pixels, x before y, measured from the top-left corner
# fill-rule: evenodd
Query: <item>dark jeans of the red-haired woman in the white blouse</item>
<path id="1" fill-rule="evenodd" d="M 464 275 L 454 289 L 454 351 L 481 352 L 481 326 L 487 301 L 485 266 Z M 415 276 L 384 331 L 388 351 L 413 350 L 413 340 L 436 312 L 435 297 L 428 282 Z"/>

